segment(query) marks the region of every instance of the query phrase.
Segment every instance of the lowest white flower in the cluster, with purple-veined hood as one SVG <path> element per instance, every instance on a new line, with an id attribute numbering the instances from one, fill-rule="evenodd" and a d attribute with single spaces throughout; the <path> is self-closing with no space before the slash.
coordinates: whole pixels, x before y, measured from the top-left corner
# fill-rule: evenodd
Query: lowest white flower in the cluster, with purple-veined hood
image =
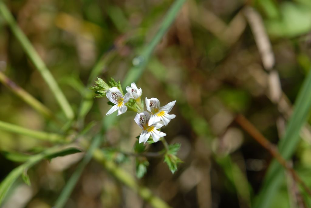
<path id="1" fill-rule="evenodd" d="M 152 136 L 154 142 L 157 142 L 161 137 L 166 136 L 165 133 L 159 132 L 157 130 L 163 126 L 162 122 L 157 122 L 155 124 L 148 125 L 150 116 L 151 115 L 149 112 L 144 111 L 142 113 L 137 113 L 137 115 L 134 118 L 134 121 L 137 123 L 137 125 L 142 128 L 142 133 L 139 136 L 139 143 L 142 142 L 146 143 L 150 135 Z"/>

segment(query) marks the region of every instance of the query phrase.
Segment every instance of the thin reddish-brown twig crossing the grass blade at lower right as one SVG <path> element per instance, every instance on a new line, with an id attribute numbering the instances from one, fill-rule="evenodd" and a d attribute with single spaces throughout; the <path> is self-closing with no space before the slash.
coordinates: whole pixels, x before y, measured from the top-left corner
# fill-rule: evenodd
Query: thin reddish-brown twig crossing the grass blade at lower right
<path id="1" fill-rule="evenodd" d="M 268 141 L 257 129 L 249 122 L 243 115 L 239 114 L 235 119 L 237 122 L 249 135 L 251 135 L 261 146 L 267 149 L 270 154 L 287 170 L 291 173 L 294 180 L 304 188 L 304 190 L 311 196 L 311 190 L 302 181 L 295 170 L 287 163 L 287 161 L 279 153 L 275 145 Z"/>

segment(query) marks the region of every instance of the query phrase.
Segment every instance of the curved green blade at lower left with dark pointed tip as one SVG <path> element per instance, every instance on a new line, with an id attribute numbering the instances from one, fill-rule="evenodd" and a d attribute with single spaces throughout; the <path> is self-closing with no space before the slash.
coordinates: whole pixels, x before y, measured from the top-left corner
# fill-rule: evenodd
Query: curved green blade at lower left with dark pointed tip
<path id="1" fill-rule="evenodd" d="M 62 147 L 54 146 L 38 155 L 31 156 L 26 163 L 13 169 L 11 173 L 9 173 L 9 175 L 7 175 L 7 177 L 0 183 L 0 206 L 2 205 L 2 202 L 12 184 L 16 181 L 18 177 L 20 177 L 24 173 L 25 170 L 29 169 L 42 159 L 52 159 L 54 157 L 80 152 L 80 150 L 77 150 L 75 148 L 67 148 L 63 150 L 61 150 L 61 148 Z"/>

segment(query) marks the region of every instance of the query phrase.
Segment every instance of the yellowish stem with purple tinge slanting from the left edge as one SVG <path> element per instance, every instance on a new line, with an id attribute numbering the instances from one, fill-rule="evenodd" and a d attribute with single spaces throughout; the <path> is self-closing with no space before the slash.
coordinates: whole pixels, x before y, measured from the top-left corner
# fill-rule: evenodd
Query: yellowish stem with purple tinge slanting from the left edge
<path id="1" fill-rule="evenodd" d="M 0 82 L 12 90 L 12 92 L 24 100 L 27 104 L 29 104 L 36 111 L 41 113 L 46 118 L 54 118 L 53 113 L 45 107 L 42 103 L 40 103 L 37 99 L 35 99 L 32 95 L 30 95 L 27 91 L 18 86 L 15 82 L 10 80 L 7 76 L 5 76 L 2 72 L 0 72 Z"/>

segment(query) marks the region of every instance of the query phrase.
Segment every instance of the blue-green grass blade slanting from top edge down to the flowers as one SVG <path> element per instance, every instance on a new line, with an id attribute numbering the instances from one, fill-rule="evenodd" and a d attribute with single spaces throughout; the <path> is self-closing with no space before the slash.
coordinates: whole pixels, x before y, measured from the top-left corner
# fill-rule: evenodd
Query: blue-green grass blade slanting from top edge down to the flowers
<path id="1" fill-rule="evenodd" d="M 138 63 L 136 64 L 136 66 L 132 67 L 128 71 L 127 75 L 125 76 L 122 82 L 123 87 L 130 86 L 131 82 L 136 82 L 139 79 L 139 77 L 142 75 L 142 72 L 144 71 L 148 63 L 152 55 L 152 52 L 156 48 L 156 45 L 159 44 L 160 40 L 165 35 L 166 31 L 169 29 L 169 26 L 175 20 L 184 2 L 185 0 L 176 0 L 174 4 L 169 8 L 169 11 L 166 13 L 165 17 L 163 18 L 163 21 L 160 25 L 158 32 L 153 37 L 151 42 L 146 45 L 142 54 L 137 57 Z"/>

